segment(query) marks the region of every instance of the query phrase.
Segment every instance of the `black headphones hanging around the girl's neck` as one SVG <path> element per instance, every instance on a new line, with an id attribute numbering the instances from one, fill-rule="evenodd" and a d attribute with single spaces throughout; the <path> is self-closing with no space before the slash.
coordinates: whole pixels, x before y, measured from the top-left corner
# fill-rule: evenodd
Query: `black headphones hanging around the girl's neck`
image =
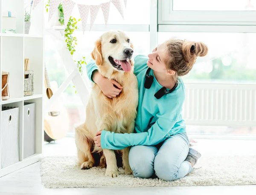
<path id="1" fill-rule="evenodd" d="M 154 76 L 148 75 L 149 71 L 151 71 L 151 68 L 148 68 L 148 70 L 146 72 L 146 80 L 145 80 L 145 83 L 144 83 L 144 88 L 146 88 L 146 89 L 151 88 L 151 85 L 152 85 L 153 80 L 154 80 Z M 175 88 L 177 88 L 177 86 L 178 86 L 178 82 L 176 82 L 174 87 L 172 89 L 170 89 L 169 91 L 166 89 L 166 87 L 163 87 L 160 90 L 158 90 L 157 93 L 154 94 L 154 96 L 157 99 L 160 99 L 164 95 L 166 95 L 168 93 L 172 93 L 175 90 Z"/>

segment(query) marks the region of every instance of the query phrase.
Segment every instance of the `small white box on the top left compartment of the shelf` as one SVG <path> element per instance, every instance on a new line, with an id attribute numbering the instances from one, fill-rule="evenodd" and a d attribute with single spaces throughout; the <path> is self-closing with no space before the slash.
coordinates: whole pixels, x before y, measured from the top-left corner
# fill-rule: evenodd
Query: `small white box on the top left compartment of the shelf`
<path id="1" fill-rule="evenodd" d="M 16 30 L 16 13 L 14 11 L 3 11 L 2 14 L 2 32 L 11 32 Z M 6 31 L 7 30 L 7 31 Z"/>

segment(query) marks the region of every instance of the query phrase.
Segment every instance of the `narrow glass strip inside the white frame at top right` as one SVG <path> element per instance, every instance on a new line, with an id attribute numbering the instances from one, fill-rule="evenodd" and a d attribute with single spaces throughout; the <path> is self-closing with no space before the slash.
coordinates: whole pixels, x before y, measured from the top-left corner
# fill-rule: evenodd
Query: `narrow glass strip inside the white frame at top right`
<path id="1" fill-rule="evenodd" d="M 256 0 L 173 0 L 175 11 L 256 11 Z"/>

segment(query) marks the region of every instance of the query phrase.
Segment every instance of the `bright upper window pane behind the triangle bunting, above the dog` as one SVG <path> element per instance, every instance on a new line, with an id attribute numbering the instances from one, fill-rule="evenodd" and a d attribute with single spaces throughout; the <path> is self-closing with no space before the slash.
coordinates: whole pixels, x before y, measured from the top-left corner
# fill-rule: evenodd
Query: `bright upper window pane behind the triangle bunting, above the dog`
<path id="1" fill-rule="evenodd" d="M 149 0 L 128 0 L 126 8 L 124 9 L 125 16 L 123 20 L 119 11 L 116 9 L 113 3 L 111 3 L 108 24 L 149 24 L 149 10 Z M 74 7 L 72 16 L 76 19 L 80 18 L 77 6 Z M 88 16 L 87 24 L 90 24 L 90 14 Z M 99 13 L 94 24 L 105 24 L 101 8 L 99 9 Z"/>

